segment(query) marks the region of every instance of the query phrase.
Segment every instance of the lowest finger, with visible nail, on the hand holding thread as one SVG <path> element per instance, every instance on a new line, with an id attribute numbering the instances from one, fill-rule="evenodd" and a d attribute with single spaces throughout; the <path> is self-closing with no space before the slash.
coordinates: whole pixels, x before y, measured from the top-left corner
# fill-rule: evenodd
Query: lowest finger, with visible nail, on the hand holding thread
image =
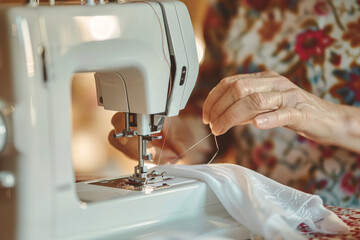
<path id="1" fill-rule="evenodd" d="M 298 109 L 285 107 L 274 112 L 261 114 L 254 119 L 253 123 L 259 129 L 286 126 L 295 131 L 303 131 L 309 121 L 306 121 L 306 116 Z"/>

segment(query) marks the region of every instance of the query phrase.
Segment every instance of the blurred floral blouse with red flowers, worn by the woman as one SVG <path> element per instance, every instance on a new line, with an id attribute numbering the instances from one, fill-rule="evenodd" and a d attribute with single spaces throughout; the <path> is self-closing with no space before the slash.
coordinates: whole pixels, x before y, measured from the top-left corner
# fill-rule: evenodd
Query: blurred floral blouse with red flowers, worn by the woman
<path id="1" fill-rule="evenodd" d="M 192 101 L 225 76 L 274 70 L 326 100 L 360 107 L 360 0 L 217 0 L 204 23 L 206 55 Z M 360 155 L 323 146 L 284 128 L 232 128 L 218 162 L 256 170 L 359 207 Z"/>

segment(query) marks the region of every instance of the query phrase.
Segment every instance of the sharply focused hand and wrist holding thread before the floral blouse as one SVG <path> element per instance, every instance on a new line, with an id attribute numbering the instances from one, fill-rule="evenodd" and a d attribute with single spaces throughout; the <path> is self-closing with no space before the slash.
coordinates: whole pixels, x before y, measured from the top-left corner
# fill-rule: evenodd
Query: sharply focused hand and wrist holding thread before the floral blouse
<path id="1" fill-rule="evenodd" d="M 273 71 L 223 79 L 203 107 L 203 121 L 215 135 L 248 123 L 259 129 L 287 127 L 317 142 L 359 152 L 360 138 L 349 134 L 346 119 L 360 121 L 360 109 L 320 99 Z"/>

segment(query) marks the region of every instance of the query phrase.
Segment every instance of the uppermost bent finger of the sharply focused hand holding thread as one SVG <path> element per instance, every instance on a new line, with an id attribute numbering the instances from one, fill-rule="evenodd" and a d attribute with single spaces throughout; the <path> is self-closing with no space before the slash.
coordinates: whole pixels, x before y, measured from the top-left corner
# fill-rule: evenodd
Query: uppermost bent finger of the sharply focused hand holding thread
<path id="1" fill-rule="evenodd" d="M 211 121 L 212 107 L 231 89 L 233 100 L 238 100 L 255 92 L 286 90 L 291 83 L 285 77 L 273 72 L 258 73 L 261 77 L 239 77 L 239 75 L 223 79 L 208 95 L 203 106 L 203 122 Z M 281 82 L 281 83 L 280 83 Z M 289 82 L 289 84 L 286 84 Z M 234 89 L 233 89 L 234 88 Z"/>

